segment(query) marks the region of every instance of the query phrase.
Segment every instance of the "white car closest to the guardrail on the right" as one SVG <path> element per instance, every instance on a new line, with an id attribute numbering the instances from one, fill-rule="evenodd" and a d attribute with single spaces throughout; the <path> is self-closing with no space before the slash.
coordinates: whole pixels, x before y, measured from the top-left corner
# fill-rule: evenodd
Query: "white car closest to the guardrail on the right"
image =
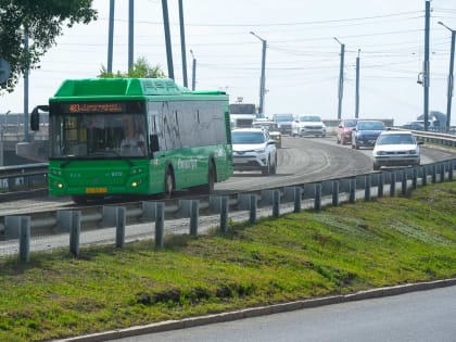
<path id="1" fill-rule="evenodd" d="M 420 149 L 410 131 L 383 131 L 372 151 L 373 169 L 382 166 L 420 165 Z"/>

